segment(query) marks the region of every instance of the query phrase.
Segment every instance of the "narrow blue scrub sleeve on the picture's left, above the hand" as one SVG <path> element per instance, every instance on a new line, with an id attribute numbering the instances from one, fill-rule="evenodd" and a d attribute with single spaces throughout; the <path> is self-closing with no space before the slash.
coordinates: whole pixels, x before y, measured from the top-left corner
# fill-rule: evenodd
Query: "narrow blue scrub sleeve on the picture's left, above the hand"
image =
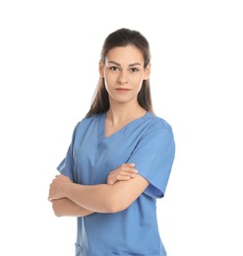
<path id="1" fill-rule="evenodd" d="M 73 161 L 73 145 L 74 145 L 74 141 L 75 141 L 77 126 L 74 129 L 72 142 L 68 148 L 66 157 L 57 166 L 57 169 L 60 171 L 60 173 L 68 176 L 72 181 L 75 181 L 74 180 L 75 175 L 74 175 L 74 161 Z"/>

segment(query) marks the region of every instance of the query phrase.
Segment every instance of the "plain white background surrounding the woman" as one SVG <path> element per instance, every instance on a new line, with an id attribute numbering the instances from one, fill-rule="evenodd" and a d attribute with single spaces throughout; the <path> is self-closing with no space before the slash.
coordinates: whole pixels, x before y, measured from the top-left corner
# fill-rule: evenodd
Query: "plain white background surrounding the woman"
<path id="1" fill-rule="evenodd" d="M 74 255 L 48 187 L 91 104 L 105 36 L 138 30 L 176 159 L 157 202 L 168 256 L 242 256 L 242 1 L 0 2 L 0 255 Z"/>

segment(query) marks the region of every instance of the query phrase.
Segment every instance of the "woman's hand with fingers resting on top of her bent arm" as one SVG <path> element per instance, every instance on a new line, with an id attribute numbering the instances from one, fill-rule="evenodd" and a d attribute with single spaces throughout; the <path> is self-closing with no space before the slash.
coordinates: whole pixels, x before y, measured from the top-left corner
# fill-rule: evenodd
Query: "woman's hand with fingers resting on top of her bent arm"
<path id="1" fill-rule="evenodd" d="M 129 180 L 134 178 L 138 174 L 138 170 L 135 168 L 134 163 L 123 163 L 116 169 L 110 171 L 107 177 L 107 184 L 114 185 L 119 180 Z"/>

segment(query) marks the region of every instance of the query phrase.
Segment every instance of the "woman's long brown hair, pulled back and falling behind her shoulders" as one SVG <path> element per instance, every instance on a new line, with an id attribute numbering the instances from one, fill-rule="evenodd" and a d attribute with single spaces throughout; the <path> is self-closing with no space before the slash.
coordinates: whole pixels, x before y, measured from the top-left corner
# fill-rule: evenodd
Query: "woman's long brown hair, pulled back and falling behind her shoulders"
<path id="1" fill-rule="evenodd" d="M 151 51 L 150 44 L 147 38 L 137 31 L 132 31 L 129 29 L 120 29 L 115 32 L 111 32 L 104 40 L 100 59 L 104 63 L 107 52 L 114 48 L 126 45 L 134 45 L 141 50 L 144 55 L 144 68 L 148 66 L 151 62 Z M 140 93 L 138 94 L 139 104 L 145 108 L 147 111 L 152 110 L 152 96 L 150 89 L 150 80 L 144 80 Z M 91 108 L 87 113 L 87 117 L 93 114 L 102 113 L 109 109 L 109 96 L 105 89 L 104 79 L 99 78 L 94 96 L 91 102 Z"/>

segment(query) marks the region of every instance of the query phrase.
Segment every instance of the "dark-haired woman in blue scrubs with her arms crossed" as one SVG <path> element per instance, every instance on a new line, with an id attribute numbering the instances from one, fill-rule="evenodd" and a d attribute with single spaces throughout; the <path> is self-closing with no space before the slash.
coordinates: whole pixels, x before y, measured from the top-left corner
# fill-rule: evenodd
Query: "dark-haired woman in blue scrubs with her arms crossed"
<path id="1" fill-rule="evenodd" d="M 88 114 L 49 187 L 56 216 L 78 220 L 76 256 L 165 256 L 156 199 L 171 172 L 175 143 L 154 114 L 147 38 L 120 29 L 104 40 Z"/>

